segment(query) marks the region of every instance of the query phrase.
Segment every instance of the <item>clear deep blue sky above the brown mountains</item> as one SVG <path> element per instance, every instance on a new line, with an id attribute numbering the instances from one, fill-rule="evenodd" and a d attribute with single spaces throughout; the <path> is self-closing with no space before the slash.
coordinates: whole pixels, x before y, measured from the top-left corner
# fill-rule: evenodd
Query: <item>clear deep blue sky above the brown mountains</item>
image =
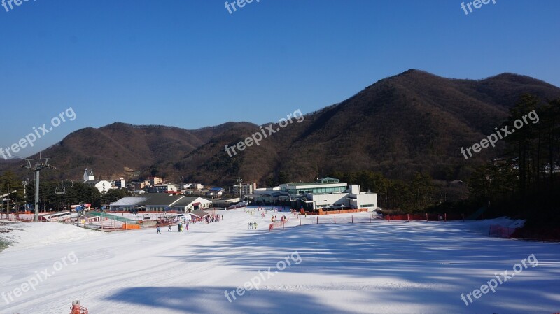
<path id="1" fill-rule="evenodd" d="M 0 6 L 0 148 L 62 123 L 27 157 L 113 122 L 273 122 L 407 69 L 521 73 L 560 86 L 560 1 L 30 0 Z M 232 2 L 232 1 L 229 1 Z M 9 9 L 9 6 L 8 6 Z"/>

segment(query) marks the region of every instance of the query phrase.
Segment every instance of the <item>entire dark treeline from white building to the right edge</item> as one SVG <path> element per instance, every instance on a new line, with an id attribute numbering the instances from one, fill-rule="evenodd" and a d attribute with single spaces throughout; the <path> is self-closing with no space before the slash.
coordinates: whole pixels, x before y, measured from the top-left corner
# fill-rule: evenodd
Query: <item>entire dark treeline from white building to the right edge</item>
<path id="1" fill-rule="evenodd" d="M 510 134 L 500 131 L 505 127 Z M 425 172 L 408 180 L 389 179 L 374 171 L 331 176 L 376 192 L 384 209 L 468 214 L 486 206 L 489 215 L 531 218 L 529 225 L 560 224 L 560 99 L 541 101 L 531 94 L 521 95 L 497 129 L 506 148 L 499 152 L 500 158 L 476 169 L 466 182 L 464 197 L 446 201 L 441 195 L 451 189 Z"/>

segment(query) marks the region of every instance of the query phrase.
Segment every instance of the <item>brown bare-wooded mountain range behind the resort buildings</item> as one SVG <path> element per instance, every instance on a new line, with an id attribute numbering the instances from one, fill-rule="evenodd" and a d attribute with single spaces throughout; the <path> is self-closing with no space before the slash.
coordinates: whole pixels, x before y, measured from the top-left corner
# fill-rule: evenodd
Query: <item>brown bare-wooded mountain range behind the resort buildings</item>
<path id="1" fill-rule="evenodd" d="M 491 134 L 523 93 L 560 97 L 558 87 L 511 73 L 458 80 L 409 70 L 305 115 L 301 123 L 289 124 L 234 157 L 224 146 L 259 132 L 258 125 L 228 122 L 186 130 L 115 123 L 73 132 L 45 150 L 43 156 L 63 169 L 45 175 L 80 178 L 83 169 L 91 168 L 105 179 L 157 175 L 177 182 L 183 176 L 225 184 L 241 176 L 262 184 L 280 171 L 291 180 L 313 180 L 335 171 L 371 169 L 391 178 L 415 171 L 464 178 L 498 150 L 484 150 L 465 162 L 458 149 Z"/>

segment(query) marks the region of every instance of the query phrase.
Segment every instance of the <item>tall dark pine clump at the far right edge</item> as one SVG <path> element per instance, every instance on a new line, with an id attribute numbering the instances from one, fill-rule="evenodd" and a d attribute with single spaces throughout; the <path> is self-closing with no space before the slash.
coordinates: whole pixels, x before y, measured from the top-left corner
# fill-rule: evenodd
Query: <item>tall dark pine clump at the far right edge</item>
<path id="1" fill-rule="evenodd" d="M 514 132 L 502 159 L 479 167 L 469 180 L 470 197 L 496 213 L 558 219 L 560 210 L 560 99 L 543 104 L 524 94 L 501 127 Z M 524 116 L 531 117 L 519 129 Z M 516 121 L 517 120 L 517 121 Z M 515 125 L 517 124 L 517 125 Z"/>

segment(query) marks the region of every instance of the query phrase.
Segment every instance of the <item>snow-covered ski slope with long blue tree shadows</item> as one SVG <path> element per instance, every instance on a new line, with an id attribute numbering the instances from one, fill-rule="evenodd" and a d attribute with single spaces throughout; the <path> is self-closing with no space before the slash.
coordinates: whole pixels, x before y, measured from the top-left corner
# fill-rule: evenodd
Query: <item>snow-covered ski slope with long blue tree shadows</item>
<path id="1" fill-rule="evenodd" d="M 0 313 L 69 313 L 75 299 L 91 314 L 560 311 L 560 244 L 488 238 L 496 220 L 367 223 L 361 213 L 353 217 L 363 223 L 308 217 L 269 232 L 272 213 L 220 213 L 223 221 L 181 234 L 10 225 L 0 234 L 14 242 L 0 253 Z M 496 292 L 461 300 L 517 263 Z"/>

